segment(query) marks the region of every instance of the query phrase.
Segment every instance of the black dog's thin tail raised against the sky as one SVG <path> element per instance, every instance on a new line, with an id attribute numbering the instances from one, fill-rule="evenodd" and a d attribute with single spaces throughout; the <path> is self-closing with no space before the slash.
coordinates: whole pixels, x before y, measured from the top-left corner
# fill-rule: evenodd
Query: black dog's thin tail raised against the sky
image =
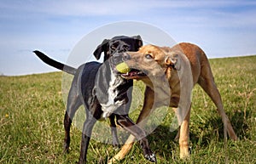
<path id="1" fill-rule="evenodd" d="M 59 69 L 61 71 L 65 71 L 69 74 L 74 75 L 77 71 L 77 69 L 68 66 L 68 65 L 64 65 L 54 59 L 50 59 L 48 56 L 46 56 L 45 54 L 41 53 L 38 50 L 33 51 L 35 54 L 37 54 L 38 58 L 42 59 L 44 61 L 44 63 L 46 63 L 47 65 L 51 65 L 53 67 L 55 67 L 56 69 Z"/>

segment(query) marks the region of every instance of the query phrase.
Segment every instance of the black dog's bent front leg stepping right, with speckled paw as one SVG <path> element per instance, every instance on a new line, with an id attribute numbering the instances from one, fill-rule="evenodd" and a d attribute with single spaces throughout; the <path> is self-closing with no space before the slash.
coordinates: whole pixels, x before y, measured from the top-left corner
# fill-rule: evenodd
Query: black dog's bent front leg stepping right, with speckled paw
<path id="1" fill-rule="evenodd" d="M 150 150 L 148 139 L 146 138 L 146 133 L 141 127 L 131 121 L 131 118 L 127 115 L 119 116 L 117 115 L 117 123 L 130 132 L 133 136 L 140 140 L 140 144 L 143 148 L 143 155 L 148 161 L 156 162 L 156 157 L 154 153 Z"/>

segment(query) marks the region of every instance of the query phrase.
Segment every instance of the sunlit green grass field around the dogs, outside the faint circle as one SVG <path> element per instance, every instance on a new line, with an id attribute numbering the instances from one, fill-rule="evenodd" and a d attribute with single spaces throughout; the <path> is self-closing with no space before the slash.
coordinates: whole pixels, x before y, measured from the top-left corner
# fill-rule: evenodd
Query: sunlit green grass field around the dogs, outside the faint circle
<path id="1" fill-rule="evenodd" d="M 176 132 L 169 130 L 170 114 L 148 136 L 158 163 L 256 163 L 256 56 L 211 59 L 210 62 L 224 109 L 239 140 L 229 139 L 225 149 L 220 116 L 207 94 L 196 86 L 190 119 L 191 157 L 188 161 L 178 157 Z M 81 132 L 76 127 L 72 128 L 70 153 L 62 153 L 65 105 L 61 79 L 61 72 L 0 76 L 0 163 L 78 161 Z M 88 163 L 105 163 L 117 152 L 110 144 L 91 140 Z M 119 163 L 148 161 L 135 144 Z"/>

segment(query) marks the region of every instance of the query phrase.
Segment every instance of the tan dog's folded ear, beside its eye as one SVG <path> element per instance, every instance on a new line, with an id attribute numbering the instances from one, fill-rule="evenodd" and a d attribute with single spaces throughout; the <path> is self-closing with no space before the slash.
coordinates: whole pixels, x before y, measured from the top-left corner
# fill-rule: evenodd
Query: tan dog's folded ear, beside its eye
<path id="1" fill-rule="evenodd" d="M 175 52 L 167 54 L 165 63 L 166 65 L 171 65 L 177 71 L 181 68 L 179 55 Z"/>

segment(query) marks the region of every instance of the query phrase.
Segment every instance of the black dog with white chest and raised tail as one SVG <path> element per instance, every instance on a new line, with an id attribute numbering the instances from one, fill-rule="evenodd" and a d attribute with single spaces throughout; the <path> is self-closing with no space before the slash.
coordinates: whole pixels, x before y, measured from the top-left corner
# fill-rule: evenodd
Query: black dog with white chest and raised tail
<path id="1" fill-rule="evenodd" d="M 115 65 L 122 62 L 121 53 L 125 51 L 137 51 L 143 45 L 140 36 L 137 37 L 113 37 L 110 40 L 105 39 L 99 45 L 94 55 L 100 59 L 104 52 L 104 63 L 89 62 L 80 65 L 78 69 L 63 65 L 54 59 L 49 59 L 45 54 L 34 51 L 40 59 L 46 64 L 54 66 L 61 71 L 73 74 L 73 82 L 68 93 L 67 111 L 64 118 L 65 139 L 64 150 L 68 151 L 70 144 L 70 127 L 73 116 L 80 105 L 84 105 L 86 119 L 83 127 L 81 141 L 81 150 L 79 163 L 86 162 L 86 154 L 90 142 L 90 135 L 96 121 L 101 118 L 110 119 L 110 127 L 113 135 L 113 144 L 119 144 L 117 139 L 117 124 L 125 128 L 137 139 L 141 139 L 140 144 L 143 148 L 143 155 L 149 161 L 156 161 L 154 153 L 148 146 L 148 140 L 143 129 L 138 127 L 128 116 L 131 106 L 132 80 L 123 79 Z"/>

